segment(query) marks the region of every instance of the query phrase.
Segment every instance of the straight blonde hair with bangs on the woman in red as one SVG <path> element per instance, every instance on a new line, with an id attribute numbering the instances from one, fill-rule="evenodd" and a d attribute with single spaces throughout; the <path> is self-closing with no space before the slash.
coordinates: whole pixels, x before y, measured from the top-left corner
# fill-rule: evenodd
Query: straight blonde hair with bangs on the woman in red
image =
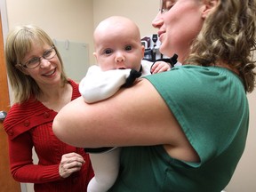
<path id="1" fill-rule="evenodd" d="M 7 36 L 4 54 L 8 78 L 14 94 L 14 102 L 22 103 L 31 96 L 36 98 L 41 92 L 36 81 L 31 76 L 25 75 L 22 69 L 15 67 L 31 51 L 34 42 L 54 46 L 52 39 L 43 29 L 32 25 L 13 28 Z M 64 72 L 60 52 L 58 52 L 56 47 L 55 51 L 62 67 L 61 81 L 64 85 L 68 82 L 68 78 Z"/>

